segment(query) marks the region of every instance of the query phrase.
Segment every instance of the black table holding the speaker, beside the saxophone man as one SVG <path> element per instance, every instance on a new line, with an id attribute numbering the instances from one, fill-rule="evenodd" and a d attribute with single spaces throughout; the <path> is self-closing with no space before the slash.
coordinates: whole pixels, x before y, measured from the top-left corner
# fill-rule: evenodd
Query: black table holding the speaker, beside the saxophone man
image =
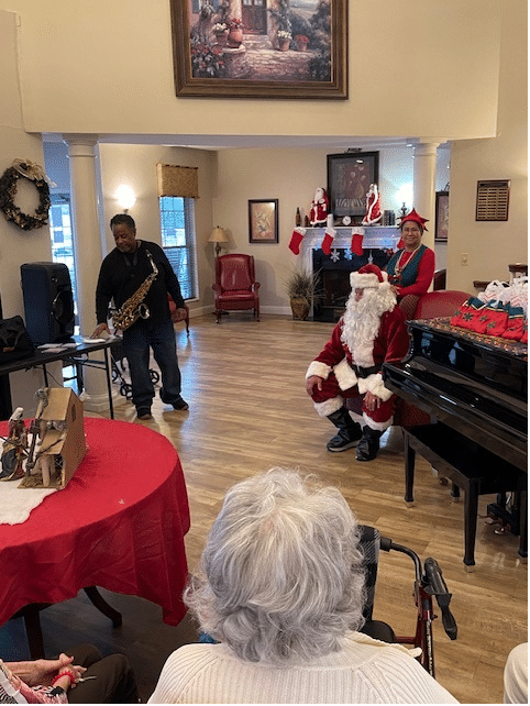
<path id="1" fill-rule="evenodd" d="M 104 341 L 99 341 L 95 343 L 85 343 L 82 337 L 74 335 L 67 341 L 57 343 L 57 348 L 65 345 L 66 343 L 76 343 L 76 348 L 68 348 L 64 351 L 56 351 L 53 353 L 46 352 L 46 349 L 42 351 L 36 351 L 34 355 L 20 358 L 18 361 L 11 361 L 10 363 L 4 363 L 0 365 L 0 379 L 5 379 L 3 376 L 8 376 L 9 373 L 14 373 L 16 371 L 30 371 L 34 367 L 42 367 L 44 374 L 44 386 L 48 387 L 48 375 L 46 365 L 48 363 L 55 363 L 57 361 L 63 361 L 74 365 L 76 368 L 76 379 L 78 384 L 78 391 L 80 393 L 84 386 L 82 383 L 82 368 L 88 367 L 99 367 L 104 369 L 107 376 L 107 390 L 109 394 L 109 408 L 110 408 L 110 418 L 114 419 L 114 407 L 112 405 L 112 380 L 111 380 L 111 363 L 109 349 L 117 342 L 115 338 L 106 339 Z M 90 354 L 96 351 L 103 351 L 103 360 L 90 358 Z M 10 413 L 5 413 L 5 410 L 0 410 L 0 419 L 8 419 Z"/>

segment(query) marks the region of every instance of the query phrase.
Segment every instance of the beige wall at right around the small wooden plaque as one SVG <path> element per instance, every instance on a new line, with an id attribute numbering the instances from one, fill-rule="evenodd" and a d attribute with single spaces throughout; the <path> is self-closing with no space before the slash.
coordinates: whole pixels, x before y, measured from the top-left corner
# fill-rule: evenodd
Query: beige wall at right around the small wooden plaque
<path id="1" fill-rule="evenodd" d="M 528 5 L 505 3 L 498 135 L 452 145 L 448 287 L 474 293 L 473 280 L 508 279 L 528 263 Z M 510 179 L 508 221 L 475 221 L 476 183 Z M 462 253 L 468 265 L 462 266 Z"/>

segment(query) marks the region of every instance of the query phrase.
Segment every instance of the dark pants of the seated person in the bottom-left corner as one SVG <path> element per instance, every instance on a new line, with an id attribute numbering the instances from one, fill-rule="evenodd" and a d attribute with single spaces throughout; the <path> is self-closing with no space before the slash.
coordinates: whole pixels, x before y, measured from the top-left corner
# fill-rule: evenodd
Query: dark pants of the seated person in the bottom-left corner
<path id="1" fill-rule="evenodd" d="M 82 676 L 96 679 L 81 682 L 68 690 L 70 704 L 137 704 L 139 692 L 134 673 L 124 654 L 101 652 L 91 644 L 79 644 L 66 654 L 74 657 L 74 664 L 86 666 Z"/>

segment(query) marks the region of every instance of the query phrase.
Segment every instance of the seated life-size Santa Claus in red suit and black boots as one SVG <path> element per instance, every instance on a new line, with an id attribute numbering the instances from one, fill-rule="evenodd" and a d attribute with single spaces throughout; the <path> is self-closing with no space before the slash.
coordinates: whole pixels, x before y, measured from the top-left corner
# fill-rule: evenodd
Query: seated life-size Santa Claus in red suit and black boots
<path id="1" fill-rule="evenodd" d="M 396 396 L 383 383 L 382 365 L 405 357 L 409 335 L 386 273 L 369 264 L 352 272 L 350 282 L 346 311 L 309 365 L 306 389 L 320 417 L 339 429 L 328 450 L 356 445 L 356 460 L 372 461 L 396 406 Z M 363 397 L 363 428 L 344 407 L 345 398 L 357 396 Z"/>

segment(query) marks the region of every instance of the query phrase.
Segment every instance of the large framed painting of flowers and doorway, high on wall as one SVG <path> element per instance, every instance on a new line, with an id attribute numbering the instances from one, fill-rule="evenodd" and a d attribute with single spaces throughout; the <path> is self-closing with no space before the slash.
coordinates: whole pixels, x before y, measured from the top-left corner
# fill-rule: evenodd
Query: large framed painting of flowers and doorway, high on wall
<path id="1" fill-rule="evenodd" d="M 170 0 L 178 97 L 347 98 L 347 0 Z"/>

